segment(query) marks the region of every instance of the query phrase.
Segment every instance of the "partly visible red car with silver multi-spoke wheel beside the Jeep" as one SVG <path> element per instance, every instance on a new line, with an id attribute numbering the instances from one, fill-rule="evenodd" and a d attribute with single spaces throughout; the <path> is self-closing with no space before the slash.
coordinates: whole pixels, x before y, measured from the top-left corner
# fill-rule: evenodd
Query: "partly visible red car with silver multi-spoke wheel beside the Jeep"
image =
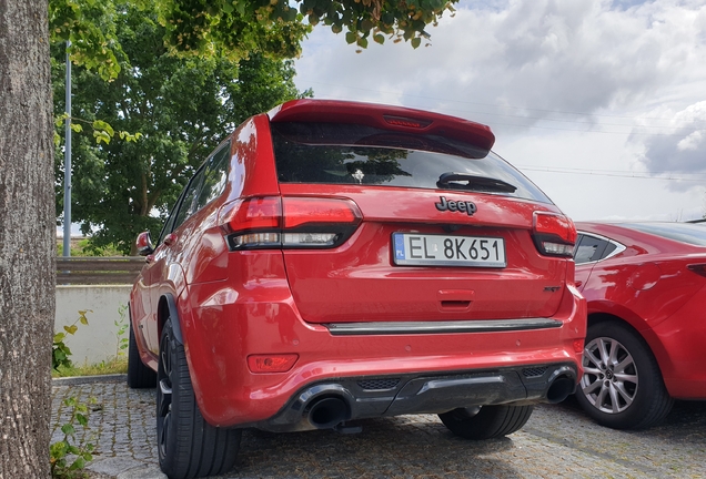
<path id="1" fill-rule="evenodd" d="M 639 429 L 676 399 L 706 399 L 706 226 L 577 223 L 588 303 L 576 398 L 597 422 Z"/>

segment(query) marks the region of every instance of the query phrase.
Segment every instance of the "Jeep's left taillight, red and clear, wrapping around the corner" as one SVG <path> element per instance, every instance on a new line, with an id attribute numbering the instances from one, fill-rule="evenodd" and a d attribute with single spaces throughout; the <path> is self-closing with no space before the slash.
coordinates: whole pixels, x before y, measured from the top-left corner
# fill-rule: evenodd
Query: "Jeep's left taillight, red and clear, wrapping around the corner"
<path id="1" fill-rule="evenodd" d="M 221 214 L 231 249 L 334 247 L 363 218 L 350 200 L 300 196 L 238 200 Z"/>

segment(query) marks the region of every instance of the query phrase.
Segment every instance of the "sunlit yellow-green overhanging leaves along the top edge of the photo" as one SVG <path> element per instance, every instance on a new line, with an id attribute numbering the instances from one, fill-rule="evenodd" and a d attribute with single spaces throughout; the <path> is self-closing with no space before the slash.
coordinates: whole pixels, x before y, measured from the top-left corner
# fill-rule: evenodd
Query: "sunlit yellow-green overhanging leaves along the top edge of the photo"
<path id="1" fill-rule="evenodd" d="M 430 39 L 446 12 L 458 0 L 131 0 L 130 4 L 155 11 L 164 27 L 163 39 L 182 54 L 223 55 L 232 61 L 260 53 L 271 59 L 292 59 L 301 42 L 317 24 L 334 33 L 345 30 L 345 41 L 365 49 L 370 39 L 384 43 L 410 41 L 420 47 Z M 71 58 L 108 80 L 120 71 L 113 2 L 51 0 L 52 40 L 71 41 Z M 98 21 L 100 19 L 100 21 Z"/>

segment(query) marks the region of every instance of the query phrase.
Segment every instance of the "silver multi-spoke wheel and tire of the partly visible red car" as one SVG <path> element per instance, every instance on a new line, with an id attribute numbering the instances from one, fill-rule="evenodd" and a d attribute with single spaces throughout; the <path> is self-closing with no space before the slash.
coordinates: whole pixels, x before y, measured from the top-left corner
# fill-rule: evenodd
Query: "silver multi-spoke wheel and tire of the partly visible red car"
<path id="1" fill-rule="evenodd" d="M 645 429 L 672 410 L 659 365 L 647 343 L 616 322 L 588 327 L 584 375 L 576 400 L 596 422 L 614 429 Z"/>

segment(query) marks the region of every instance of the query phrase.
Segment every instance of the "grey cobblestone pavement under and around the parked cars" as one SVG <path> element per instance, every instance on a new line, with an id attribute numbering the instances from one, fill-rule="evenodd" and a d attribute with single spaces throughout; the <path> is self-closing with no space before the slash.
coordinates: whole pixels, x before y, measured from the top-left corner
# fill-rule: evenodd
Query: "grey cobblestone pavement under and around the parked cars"
<path id="1" fill-rule="evenodd" d="M 53 387 L 54 440 L 62 399 L 97 404 L 89 431 L 94 477 L 164 478 L 157 465 L 154 390 L 124 381 Z M 706 478 L 706 401 L 679 401 L 646 431 L 602 428 L 573 400 L 541 405 L 507 438 L 473 442 L 453 436 L 434 415 L 360 421 L 363 431 L 243 434 L 236 468 L 221 478 Z"/>

